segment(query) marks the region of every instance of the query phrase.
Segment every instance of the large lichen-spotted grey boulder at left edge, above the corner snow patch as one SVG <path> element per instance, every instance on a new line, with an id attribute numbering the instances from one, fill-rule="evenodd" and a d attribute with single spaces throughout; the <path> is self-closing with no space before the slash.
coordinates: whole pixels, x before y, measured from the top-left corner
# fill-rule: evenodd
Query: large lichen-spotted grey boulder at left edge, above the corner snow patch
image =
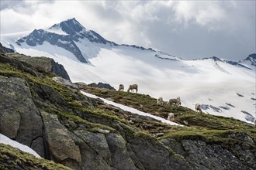
<path id="1" fill-rule="evenodd" d="M 43 122 L 28 83 L 20 78 L 0 76 L 0 100 L 1 133 L 29 147 L 41 148 L 43 143 L 33 141 L 43 136 Z M 42 149 L 40 152 L 44 153 Z"/>

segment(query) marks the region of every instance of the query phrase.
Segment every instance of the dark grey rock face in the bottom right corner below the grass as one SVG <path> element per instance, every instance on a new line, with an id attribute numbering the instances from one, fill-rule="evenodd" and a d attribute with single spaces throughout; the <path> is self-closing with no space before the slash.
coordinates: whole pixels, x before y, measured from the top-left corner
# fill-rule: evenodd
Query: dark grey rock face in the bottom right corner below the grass
<path id="1" fill-rule="evenodd" d="M 232 152 L 220 145 L 209 145 L 204 141 L 163 139 L 164 145 L 169 146 L 176 153 L 184 156 L 192 169 L 254 169 L 256 163 L 253 161 L 255 155 L 249 149 L 242 149 L 237 145 Z M 247 155 L 240 157 L 239 155 Z M 249 159 L 246 159 L 250 157 Z M 244 159 L 245 158 L 245 159 Z M 250 165 L 248 167 L 247 165 Z"/>

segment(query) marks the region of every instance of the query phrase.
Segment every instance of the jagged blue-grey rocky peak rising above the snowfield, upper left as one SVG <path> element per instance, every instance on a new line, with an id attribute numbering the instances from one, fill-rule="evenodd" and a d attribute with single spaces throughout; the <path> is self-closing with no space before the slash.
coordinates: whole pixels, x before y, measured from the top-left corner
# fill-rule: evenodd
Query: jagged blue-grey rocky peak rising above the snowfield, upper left
<path id="1" fill-rule="evenodd" d="M 88 39 L 90 42 L 116 45 L 116 43 L 104 39 L 97 32 L 88 31 L 76 19 L 67 19 L 46 30 L 34 29 L 28 36 L 18 39 L 16 43 L 19 46 L 22 42 L 26 42 L 29 46 L 37 46 L 42 45 L 43 42 L 50 42 L 51 45 L 59 46 L 70 51 L 82 63 L 88 63 L 85 59 L 87 56 L 83 56 L 81 50 L 75 44 L 75 42 L 80 41 L 79 39 Z"/>

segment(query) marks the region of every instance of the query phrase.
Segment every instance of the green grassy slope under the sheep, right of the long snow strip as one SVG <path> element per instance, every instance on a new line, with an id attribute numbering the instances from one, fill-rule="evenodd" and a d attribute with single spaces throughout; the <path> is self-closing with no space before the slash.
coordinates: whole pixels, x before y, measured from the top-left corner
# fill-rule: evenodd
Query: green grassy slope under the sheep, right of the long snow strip
<path id="1" fill-rule="evenodd" d="M 170 126 L 169 131 L 165 131 L 164 137 L 161 138 L 202 139 L 209 143 L 216 142 L 220 145 L 226 145 L 230 142 L 235 145 L 237 142 L 244 142 L 240 138 L 237 138 L 237 135 L 248 134 L 256 141 L 256 128 L 254 128 L 254 125 L 234 118 L 213 116 L 211 114 L 198 114 L 187 107 L 173 107 L 167 104 L 161 106 L 157 104 L 157 99 L 145 94 L 127 93 L 86 86 L 80 87 L 88 93 L 159 117 L 167 118 L 168 113 L 173 112 L 175 114 L 175 122 L 184 124 L 185 127 Z M 233 133 L 237 135 L 231 135 Z M 254 150 L 256 149 L 255 145 L 251 145 L 251 147 L 254 148 Z"/>

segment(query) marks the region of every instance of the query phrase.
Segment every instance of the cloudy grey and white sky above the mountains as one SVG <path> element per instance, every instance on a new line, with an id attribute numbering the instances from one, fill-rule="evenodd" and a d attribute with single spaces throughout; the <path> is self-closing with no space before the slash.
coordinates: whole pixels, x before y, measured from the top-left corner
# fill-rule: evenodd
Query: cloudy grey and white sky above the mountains
<path id="1" fill-rule="evenodd" d="M 1 0 L 0 33 L 48 28 L 75 18 L 119 44 L 151 47 L 183 59 L 244 59 L 255 53 L 252 1 Z"/>

